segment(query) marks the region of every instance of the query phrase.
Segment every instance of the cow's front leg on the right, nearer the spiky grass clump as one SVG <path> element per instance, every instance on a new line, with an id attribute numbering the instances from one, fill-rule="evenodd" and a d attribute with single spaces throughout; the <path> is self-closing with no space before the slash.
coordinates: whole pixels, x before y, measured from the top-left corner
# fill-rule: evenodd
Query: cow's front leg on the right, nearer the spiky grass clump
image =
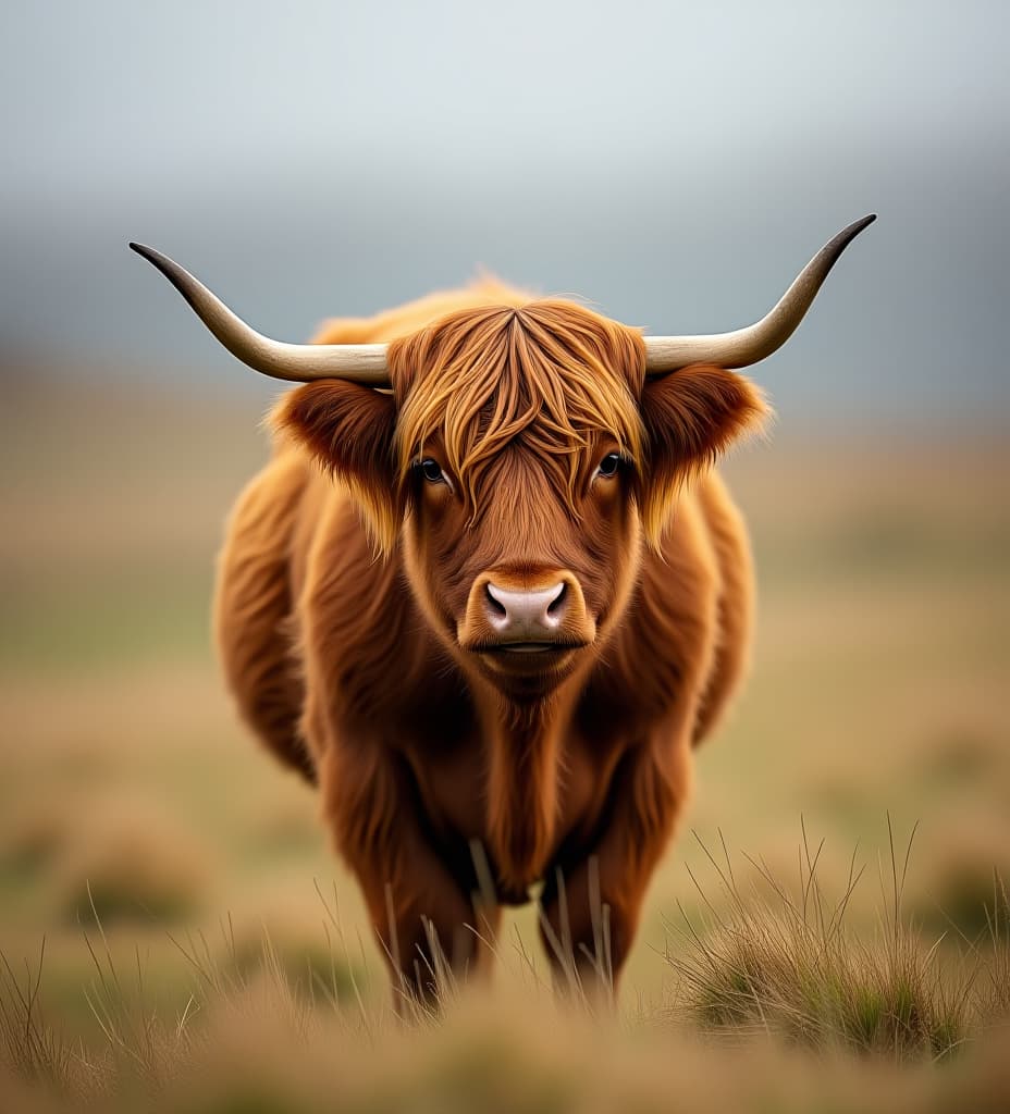
<path id="1" fill-rule="evenodd" d="M 595 847 L 546 880 L 541 937 L 559 990 L 589 998 L 616 990 L 645 888 L 687 800 L 690 771 L 687 739 L 662 760 L 649 747 L 629 752 Z"/>

